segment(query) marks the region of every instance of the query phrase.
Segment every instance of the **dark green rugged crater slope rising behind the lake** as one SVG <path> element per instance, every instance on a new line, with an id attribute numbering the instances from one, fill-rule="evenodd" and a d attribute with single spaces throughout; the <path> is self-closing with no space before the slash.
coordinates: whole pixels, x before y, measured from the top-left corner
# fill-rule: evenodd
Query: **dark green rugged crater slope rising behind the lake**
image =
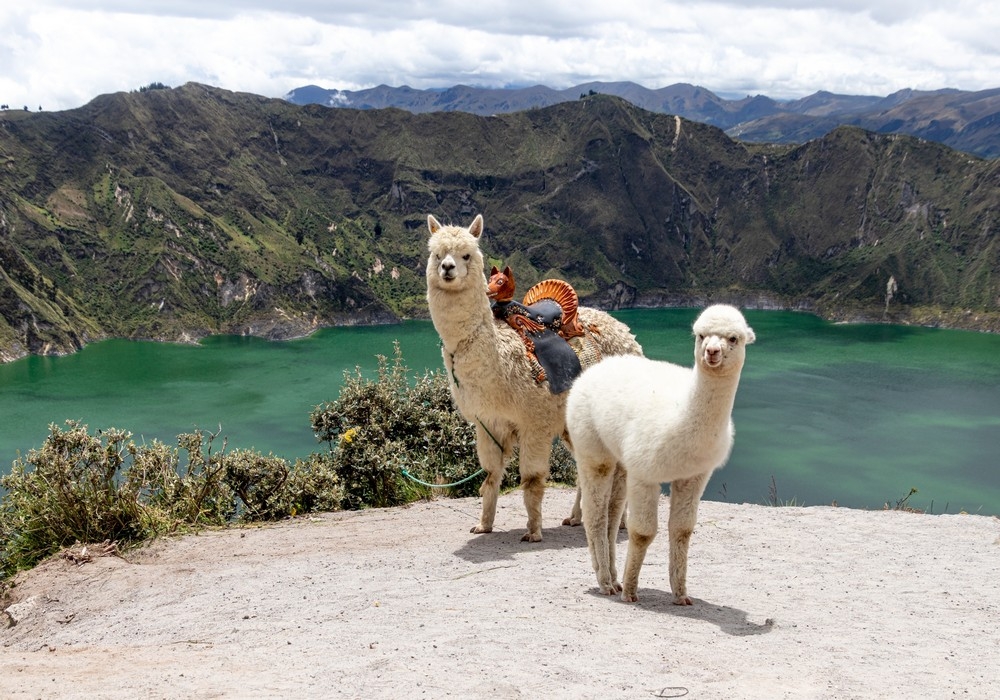
<path id="1" fill-rule="evenodd" d="M 425 313 L 425 219 L 486 217 L 522 291 L 1000 328 L 997 161 L 838 129 L 799 147 L 596 95 L 496 117 L 189 84 L 0 115 L 0 352 L 288 337 Z"/>

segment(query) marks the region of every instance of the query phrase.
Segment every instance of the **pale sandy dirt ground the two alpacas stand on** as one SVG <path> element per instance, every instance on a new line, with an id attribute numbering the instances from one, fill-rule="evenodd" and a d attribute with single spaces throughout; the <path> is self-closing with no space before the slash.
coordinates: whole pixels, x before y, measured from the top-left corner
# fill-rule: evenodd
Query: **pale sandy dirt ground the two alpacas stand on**
<path id="1" fill-rule="evenodd" d="M 572 500 L 537 544 L 514 492 L 488 535 L 442 499 L 54 558 L 0 613 L 0 697 L 1000 697 L 998 518 L 703 502 L 678 607 L 666 500 L 635 604 Z"/>

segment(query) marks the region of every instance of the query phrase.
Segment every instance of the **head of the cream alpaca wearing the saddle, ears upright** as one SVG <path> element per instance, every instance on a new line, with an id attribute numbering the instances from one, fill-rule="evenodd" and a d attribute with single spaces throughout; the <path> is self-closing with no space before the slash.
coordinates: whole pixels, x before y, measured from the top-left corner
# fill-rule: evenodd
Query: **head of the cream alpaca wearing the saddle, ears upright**
<path id="1" fill-rule="evenodd" d="M 427 248 L 427 284 L 443 291 L 463 291 L 470 286 L 482 287 L 483 254 L 479 237 L 483 233 L 483 216 L 476 215 L 468 228 L 443 226 L 432 215 L 427 216 L 431 233 Z"/>

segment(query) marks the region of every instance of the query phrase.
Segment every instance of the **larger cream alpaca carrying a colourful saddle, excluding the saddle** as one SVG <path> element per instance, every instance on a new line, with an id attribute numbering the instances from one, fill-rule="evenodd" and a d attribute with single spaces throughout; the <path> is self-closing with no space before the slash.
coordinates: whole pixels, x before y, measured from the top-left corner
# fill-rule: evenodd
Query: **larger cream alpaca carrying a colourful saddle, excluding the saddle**
<path id="1" fill-rule="evenodd" d="M 486 471 L 479 489 L 483 498 L 479 524 L 472 532 L 491 532 L 497 495 L 515 445 L 520 458 L 521 486 L 528 511 L 522 540 L 542 539 L 542 495 L 549 475 L 552 440 L 566 431 L 566 393 L 553 394 L 548 382 L 535 381 L 525 346 L 506 322 L 493 318 L 486 296 L 486 276 L 479 236 L 483 217 L 468 228 L 442 226 L 427 217 L 427 302 L 441 336 L 441 354 L 458 410 L 476 428 L 476 453 Z M 602 357 L 641 354 L 627 326 L 603 311 L 581 307 L 587 329 L 579 341 L 584 367 Z M 578 519 L 578 509 L 567 518 Z"/>

